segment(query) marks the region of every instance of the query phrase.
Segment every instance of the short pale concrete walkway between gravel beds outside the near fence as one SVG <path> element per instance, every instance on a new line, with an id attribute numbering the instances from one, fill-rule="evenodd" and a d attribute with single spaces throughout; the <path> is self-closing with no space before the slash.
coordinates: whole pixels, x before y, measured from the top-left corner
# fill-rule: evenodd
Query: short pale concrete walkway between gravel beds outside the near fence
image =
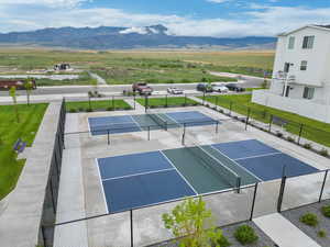
<path id="1" fill-rule="evenodd" d="M 279 247 L 320 247 L 278 213 L 254 218 L 253 222 Z"/>

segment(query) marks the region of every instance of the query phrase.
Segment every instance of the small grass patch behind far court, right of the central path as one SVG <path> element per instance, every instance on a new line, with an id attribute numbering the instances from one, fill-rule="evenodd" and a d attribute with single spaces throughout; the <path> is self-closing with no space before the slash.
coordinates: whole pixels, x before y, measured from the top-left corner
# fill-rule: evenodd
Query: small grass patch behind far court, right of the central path
<path id="1" fill-rule="evenodd" d="M 145 106 L 145 99 L 136 99 L 136 101 Z M 185 97 L 167 97 L 167 106 L 184 106 L 187 105 L 197 105 L 198 102 L 190 100 Z M 165 106 L 166 105 L 166 98 L 150 98 L 148 105 L 154 108 Z"/>

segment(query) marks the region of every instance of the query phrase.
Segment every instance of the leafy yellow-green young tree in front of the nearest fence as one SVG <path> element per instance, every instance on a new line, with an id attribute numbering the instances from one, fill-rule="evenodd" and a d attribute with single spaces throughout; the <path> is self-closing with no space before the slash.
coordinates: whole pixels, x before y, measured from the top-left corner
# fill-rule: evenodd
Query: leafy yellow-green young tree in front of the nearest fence
<path id="1" fill-rule="evenodd" d="M 212 213 L 201 198 L 185 200 L 172 213 L 163 214 L 163 222 L 179 239 L 179 247 L 230 246 L 221 229 L 215 227 Z"/>

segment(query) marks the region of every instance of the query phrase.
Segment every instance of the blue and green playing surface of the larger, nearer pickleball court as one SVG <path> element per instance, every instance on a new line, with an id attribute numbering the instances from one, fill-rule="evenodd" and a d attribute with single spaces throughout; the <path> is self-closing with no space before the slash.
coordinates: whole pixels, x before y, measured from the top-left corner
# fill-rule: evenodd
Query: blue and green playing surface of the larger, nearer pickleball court
<path id="1" fill-rule="evenodd" d="M 256 139 L 204 146 L 242 179 L 242 186 L 317 172 L 318 169 Z M 222 158 L 221 158 L 222 157 Z M 226 173 L 198 165 L 187 148 L 97 159 L 108 212 L 122 212 L 233 188 Z M 230 167 L 229 167 L 230 166 Z M 235 167 L 234 167 L 235 166 Z"/>

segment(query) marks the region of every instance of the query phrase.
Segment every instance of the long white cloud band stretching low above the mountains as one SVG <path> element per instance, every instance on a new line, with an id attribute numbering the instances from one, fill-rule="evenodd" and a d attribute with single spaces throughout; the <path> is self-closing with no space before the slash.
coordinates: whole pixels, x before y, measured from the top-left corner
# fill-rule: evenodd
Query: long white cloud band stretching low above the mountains
<path id="1" fill-rule="evenodd" d="M 19 2 L 19 0 L 13 1 Z M 33 2 L 36 0 L 26 1 Z M 55 0 L 42 1 L 55 2 Z M 69 1 L 72 4 L 81 3 L 81 0 Z M 59 4 L 62 1 L 57 0 L 56 2 Z M 251 35 L 273 36 L 306 24 L 330 23 L 330 8 L 251 5 L 254 8 L 244 9 L 243 12 L 237 14 L 232 13 L 232 18 L 195 19 L 194 16 L 176 14 L 140 14 L 109 8 L 84 9 L 76 5 L 76 8 L 67 9 L 66 7 L 54 8 L 45 4 L 42 9 L 21 8 L 21 11 L 18 11 L 18 8 L 11 7 L 11 4 L 1 4 L 0 32 L 61 26 L 95 27 L 100 25 L 135 26 L 135 31 L 143 32 L 143 29 L 139 29 L 140 26 L 163 24 L 174 35 L 242 37 Z"/>

